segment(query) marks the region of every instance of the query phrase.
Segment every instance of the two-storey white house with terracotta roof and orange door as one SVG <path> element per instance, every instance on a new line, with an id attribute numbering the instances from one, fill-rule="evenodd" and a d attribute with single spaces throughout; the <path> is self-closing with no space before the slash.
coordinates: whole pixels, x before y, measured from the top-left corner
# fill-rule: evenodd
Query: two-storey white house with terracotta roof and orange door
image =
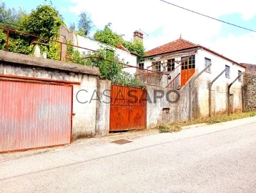
<path id="1" fill-rule="evenodd" d="M 240 74 L 245 71 L 245 66 L 240 63 L 182 38 L 151 49 L 146 54 L 140 66 L 157 71 L 162 76 L 159 86 L 180 90 L 192 81 L 197 98 L 197 117 L 207 117 L 209 112 L 225 113 L 228 108 L 231 113 L 242 111 Z M 209 64 L 211 66 L 205 69 Z M 237 78 L 238 76 L 240 77 Z M 210 87 L 213 80 L 215 81 Z M 230 85 L 233 81 L 235 82 Z M 227 104 L 227 97 L 230 97 L 230 104 Z"/>

